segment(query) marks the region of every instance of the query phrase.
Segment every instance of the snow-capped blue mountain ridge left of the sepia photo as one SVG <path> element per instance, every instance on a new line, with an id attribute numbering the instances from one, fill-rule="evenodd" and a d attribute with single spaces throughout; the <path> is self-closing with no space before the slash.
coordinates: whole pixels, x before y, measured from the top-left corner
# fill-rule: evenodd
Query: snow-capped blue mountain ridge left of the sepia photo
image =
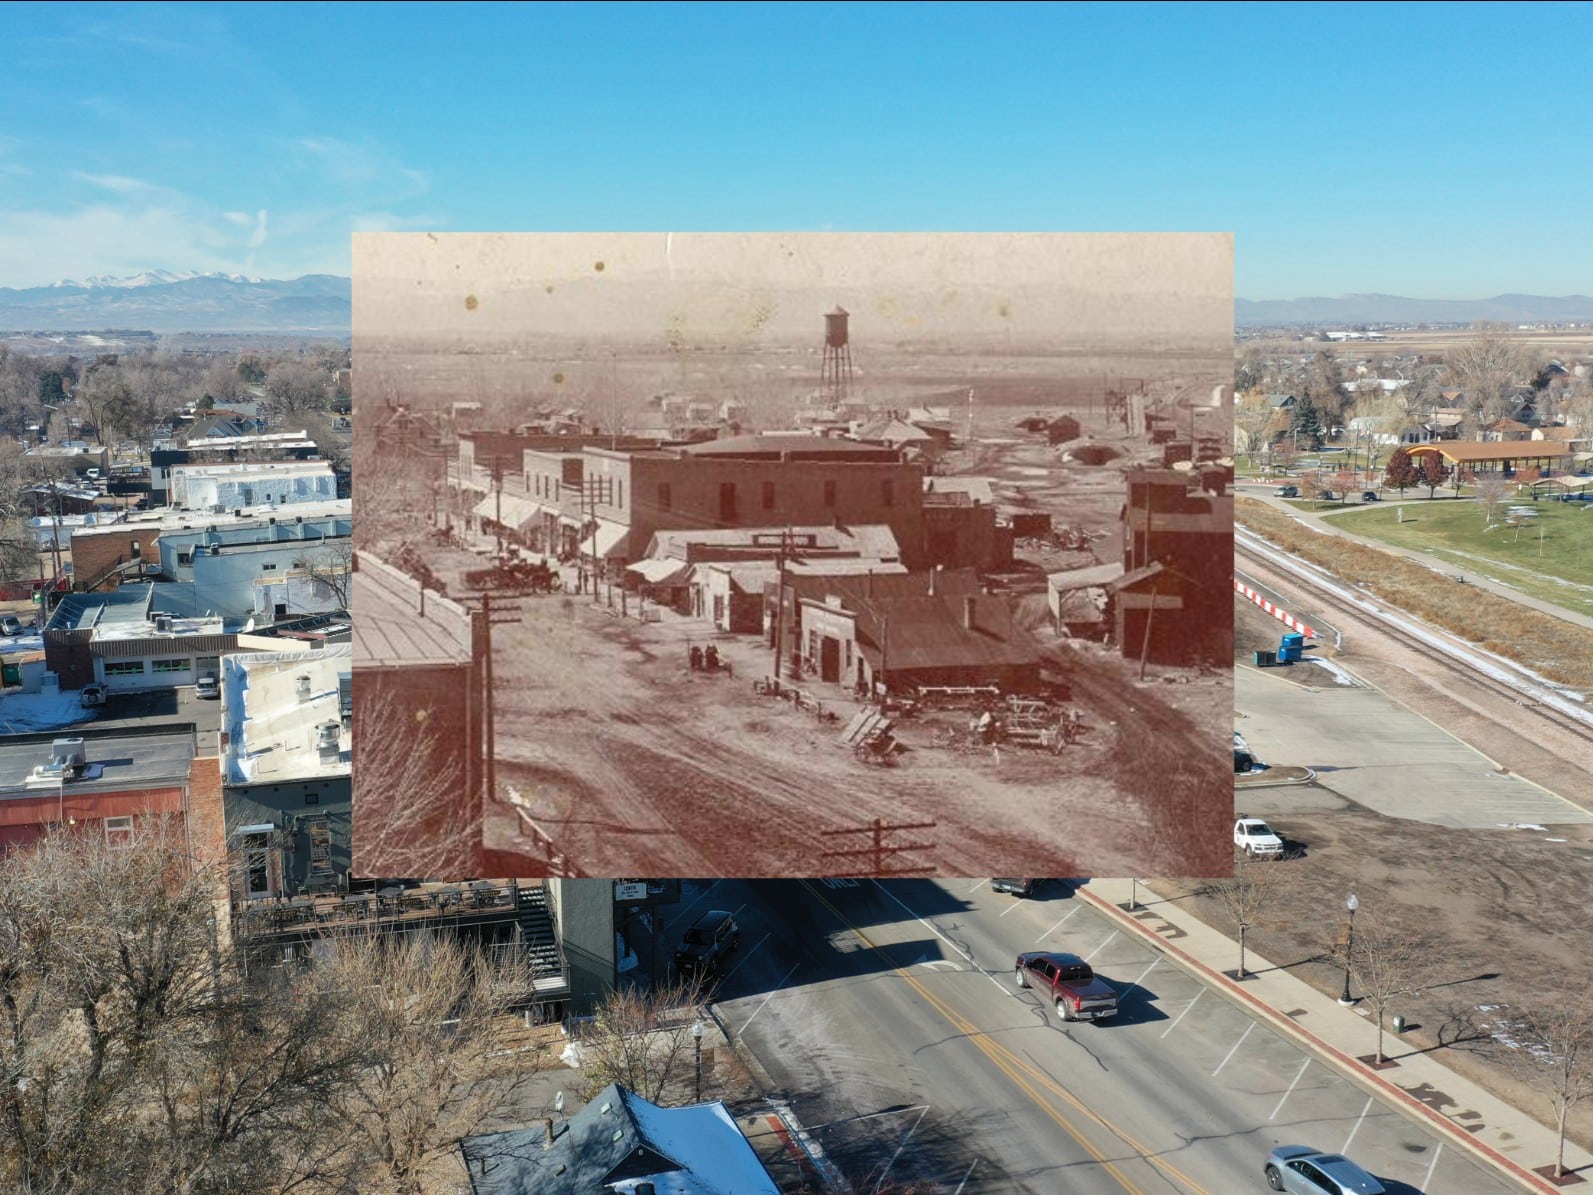
<path id="1" fill-rule="evenodd" d="M 260 279 L 245 274 L 148 269 L 48 287 L 0 287 L 0 328 L 78 331 L 142 328 L 272 331 L 347 336 L 352 282 L 338 274 Z"/>

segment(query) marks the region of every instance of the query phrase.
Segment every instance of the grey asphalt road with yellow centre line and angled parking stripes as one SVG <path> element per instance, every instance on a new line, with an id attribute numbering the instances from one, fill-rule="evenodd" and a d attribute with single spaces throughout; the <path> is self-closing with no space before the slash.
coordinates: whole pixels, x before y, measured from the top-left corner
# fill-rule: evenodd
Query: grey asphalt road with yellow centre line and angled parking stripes
<path id="1" fill-rule="evenodd" d="M 854 1190 L 1265 1190 L 1278 1144 L 1344 1150 L 1389 1190 L 1517 1190 L 1252 1021 L 1063 883 L 718 881 L 741 951 L 718 1015 Z M 1023 950 L 1083 954 L 1120 991 L 1063 1026 L 1018 993 Z"/>

